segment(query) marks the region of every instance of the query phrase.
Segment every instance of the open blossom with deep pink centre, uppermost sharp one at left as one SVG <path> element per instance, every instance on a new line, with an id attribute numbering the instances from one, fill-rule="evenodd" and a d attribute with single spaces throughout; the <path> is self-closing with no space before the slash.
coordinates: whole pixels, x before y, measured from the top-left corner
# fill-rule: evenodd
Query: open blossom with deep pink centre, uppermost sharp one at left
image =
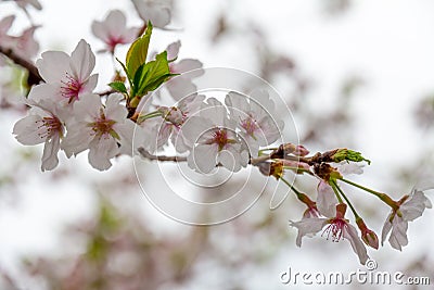
<path id="1" fill-rule="evenodd" d="M 47 51 L 36 62 L 46 84 L 33 87 L 29 98 L 34 100 L 53 99 L 66 106 L 92 92 L 98 74 L 91 75 L 95 56 L 90 46 L 80 40 L 71 56 L 62 51 Z"/>

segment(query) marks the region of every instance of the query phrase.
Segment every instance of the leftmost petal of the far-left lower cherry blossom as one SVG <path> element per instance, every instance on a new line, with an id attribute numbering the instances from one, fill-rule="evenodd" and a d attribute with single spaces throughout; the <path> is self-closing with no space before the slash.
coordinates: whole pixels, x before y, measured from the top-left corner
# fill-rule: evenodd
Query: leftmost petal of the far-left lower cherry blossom
<path id="1" fill-rule="evenodd" d="M 44 142 L 46 138 L 41 137 L 43 128 L 38 129 L 38 123 L 41 119 L 40 116 L 28 115 L 16 122 L 13 127 L 16 140 L 25 146 L 35 146 Z"/>

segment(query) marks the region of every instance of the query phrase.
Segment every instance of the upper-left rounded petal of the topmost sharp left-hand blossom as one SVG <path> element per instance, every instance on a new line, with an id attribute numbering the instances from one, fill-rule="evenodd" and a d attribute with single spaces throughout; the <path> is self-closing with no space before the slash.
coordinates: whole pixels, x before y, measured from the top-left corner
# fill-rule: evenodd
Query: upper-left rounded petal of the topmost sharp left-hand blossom
<path id="1" fill-rule="evenodd" d="M 36 62 L 39 74 L 46 83 L 61 83 L 69 71 L 69 56 L 63 51 L 46 51 Z"/>

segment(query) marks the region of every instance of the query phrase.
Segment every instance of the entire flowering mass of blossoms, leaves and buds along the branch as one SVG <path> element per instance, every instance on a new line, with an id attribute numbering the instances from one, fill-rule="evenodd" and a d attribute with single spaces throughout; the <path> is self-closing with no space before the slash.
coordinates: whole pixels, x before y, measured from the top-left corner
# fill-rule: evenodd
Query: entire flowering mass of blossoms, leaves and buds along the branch
<path id="1" fill-rule="evenodd" d="M 40 9 L 37 0 L 16 3 L 23 9 L 29 4 Z M 42 172 L 58 166 L 60 151 L 72 157 L 88 150 L 89 164 L 105 171 L 120 154 L 158 160 L 163 150 L 173 147 L 176 157 L 201 174 L 217 167 L 239 172 L 254 166 L 285 182 L 307 206 L 301 220 L 290 220 L 298 229 L 298 247 L 303 237 L 322 230 L 321 236 L 332 241 L 348 240 L 362 264 L 369 259 L 366 245 L 379 248 L 376 234 L 365 224 L 342 184 L 365 190 L 392 209 L 381 244 L 388 239 L 394 249 L 401 250 L 408 243 L 408 223 L 432 207 L 423 191 L 414 189 L 395 201 L 386 193 L 346 179 L 347 175 L 362 173 L 360 163 L 370 163 L 359 152 L 335 149 L 309 156 L 302 144 L 283 142 L 284 116 L 277 116 L 278 108 L 267 90 L 228 90 L 225 96 L 199 93 L 195 78 L 204 74 L 203 64 L 195 59 L 179 60 L 179 40 L 161 53 L 148 53 L 153 27 L 168 29 L 173 2 L 132 3 L 143 20 L 142 27 L 127 27 L 127 18 L 119 10 L 111 11 L 105 20 L 94 21 L 91 26 L 105 46 L 101 52 L 114 56 L 117 46 L 131 43 L 125 62 L 116 59 L 123 71 L 115 72 L 108 84 L 111 89 L 95 91 L 97 59 L 84 39 L 71 54 L 47 51 L 37 60 L 41 81 L 25 98 L 28 115 L 16 122 L 13 134 L 22 144 L 44 144 Z M 8 49 L 15 53 L 14 58 L 30 60 L 39 48 L 34 39 L 36 26 L 21 36 L 11 36 L 8 31 L 14 18 L 11 15 L 0 21 L 1 53 L 8 56 Z M 165 93 L 169 103 L 163 101 Z M 178 160 L 174 156 L 171 161 Z M 319 180 L 316 200 L 288 182 L 288 172 Z M 354 222 L 347 218 L 348 207 Z"/>

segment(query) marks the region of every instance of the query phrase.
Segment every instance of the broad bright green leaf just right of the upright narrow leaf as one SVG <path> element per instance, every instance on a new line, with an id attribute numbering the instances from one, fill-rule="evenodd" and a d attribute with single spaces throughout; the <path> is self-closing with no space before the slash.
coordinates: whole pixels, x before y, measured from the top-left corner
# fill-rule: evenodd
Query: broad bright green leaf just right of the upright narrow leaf
<path id="1" fill-rule="evenodd" d="M 132 80 L 133 96 L 144 96 L 149 91 L 157 89 L 169 77 L 170 73 L 167 51 L 155 56 L 155 61 L 142 64 L 136 72 Z"/>

